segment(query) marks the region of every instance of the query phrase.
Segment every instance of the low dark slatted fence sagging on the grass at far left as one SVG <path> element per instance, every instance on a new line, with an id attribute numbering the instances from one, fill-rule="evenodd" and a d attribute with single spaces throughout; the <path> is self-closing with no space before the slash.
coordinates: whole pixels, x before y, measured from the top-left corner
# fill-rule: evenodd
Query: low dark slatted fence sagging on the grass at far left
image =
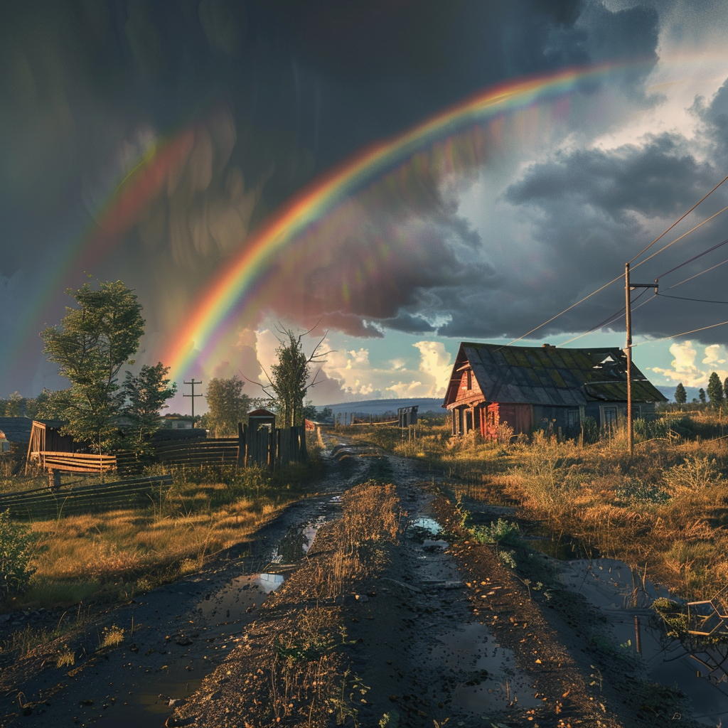
<path id="1" fill-rule="evenodd" d="M 0 511 L 9 509 L 12 518 L 47 521 L 61 515 L 94 513 L 159 504 L 172 483 L 171 475 L 156 475 L 135 480 L 119 480 L 58 491 L 33 488 L 0 496 Z"/>

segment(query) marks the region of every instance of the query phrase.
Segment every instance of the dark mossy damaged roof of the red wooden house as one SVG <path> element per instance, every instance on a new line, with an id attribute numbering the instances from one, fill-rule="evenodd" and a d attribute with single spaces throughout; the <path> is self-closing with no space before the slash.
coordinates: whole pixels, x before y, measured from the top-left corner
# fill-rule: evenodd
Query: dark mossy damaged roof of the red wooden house
<path id="1" fill-rule="evenodd" d="M 488 402 L 572 406 L 627 400 L 627 357 L 622 349 L 505 347 L 464 341 L 455 360 L 445 406 L 456 400 L 462 374 L 470 364 Z M 665 402 L 632 364 L 633 402 Z"/>

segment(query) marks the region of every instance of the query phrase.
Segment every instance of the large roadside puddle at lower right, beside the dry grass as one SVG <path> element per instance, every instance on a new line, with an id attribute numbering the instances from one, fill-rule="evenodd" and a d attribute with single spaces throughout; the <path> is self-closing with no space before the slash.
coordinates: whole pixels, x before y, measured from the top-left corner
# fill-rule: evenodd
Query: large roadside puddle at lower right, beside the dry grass
<path id="1" fill-rule="evenodd" d="M 639 630 L 649 677 L 662 685 L 675 685 L 684 692 L 701 723 L 728 724 L 728 678 L 720 668 L 711 670 L 723 656 L 709 652 L 691 656 L 677 640 L 665 637 L 659 618 L 649 608 L 657 597 L 681 600 L 660 585 L 649 581 L 642 585 L 638 575 L 633 578 L 632 570 L 614 559 L 567 561 L 561 565 L 559 577 L 569 590 L 583 594 L 601 610 L 622 649 L 636 649 Z"/>

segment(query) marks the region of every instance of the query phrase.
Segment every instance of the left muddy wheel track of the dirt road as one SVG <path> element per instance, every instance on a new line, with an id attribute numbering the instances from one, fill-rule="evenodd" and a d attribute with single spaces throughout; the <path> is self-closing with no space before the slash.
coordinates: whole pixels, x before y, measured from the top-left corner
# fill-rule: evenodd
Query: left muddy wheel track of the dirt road
<path id="1" fill-rule="evenodd" d="M 67 636 L 76 654 L 72 668 L 56 668 L 48 657 L 2 665 L 0 726 L 85 726 L 100 719 L 125 728 L 163 725 L 174 701 L 191 695 L 225 659 L 286 571 L 274 564 L 269 571 L 277 573 L 260 579 L 261 569 L 274 558 L 281 561 L 281 545 L 291 536 L 295 547 L 305 524 L 336 517 L 337 494 L 376 470 L 379 459 L 369 454 L 367 448 L 355 452 L 334 446 L 325 452 L 329 463 L 317 495 L 290 505 L 249 542 L 219 553 L 203 571 L 136 596 L 131 604 L 104 609 L 96 617 L 92 612 L 82 630 Z M 58 614 L 18 614 L 0 625 L 0 644 L 26 625 L 52 630 L 58 619 Z M 115 649 L 99 649 L 110 625 L 124 629 L 124 641 Z"/>

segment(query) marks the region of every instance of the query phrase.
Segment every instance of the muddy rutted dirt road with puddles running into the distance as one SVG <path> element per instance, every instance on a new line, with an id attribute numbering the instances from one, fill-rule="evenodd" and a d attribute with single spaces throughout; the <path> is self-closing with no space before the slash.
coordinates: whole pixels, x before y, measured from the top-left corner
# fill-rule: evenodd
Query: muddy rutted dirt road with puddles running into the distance
<path id="1" fill-rule="evenodd" d="M 382 547 L 368 579 L 323 605 L 341 631 L 326 669 L 343 674 L 342 697 L 327 698 L 324 722 L 311 722 L 312 702 L 310 725 L 629 728 L 674 725 L 676 716 L 691 724 L 672 692 L 649 687 L 638 665 L 609 649 L 583 599 L 555 586 L 529 590 L 491 547 L 463 539 L 432 473 L 347 446 L 332 452 L 322 495 L 290 507 L 253 543 L 87 625 L 76 639 L 90 657 L 73 668 L 4 666 L 2 725 L 306 725 L 294 719 L 304 714 L 293 709 L 300 690 L 281 720 L 250 716 L 272 714 L 258 705 L 276 689 L 264 668 L 272 641 L 322 606 L 309 589 L 317 558 L 336 546 L 324 524 L 338 515 L 339 494 L 368 477 L 396 484 L 404 536 Z M 546 570 L 539 562 L 533 571 L 535 585 Z M 124 628 L 123 641 L 96 649 L 109 625 Z"/>

